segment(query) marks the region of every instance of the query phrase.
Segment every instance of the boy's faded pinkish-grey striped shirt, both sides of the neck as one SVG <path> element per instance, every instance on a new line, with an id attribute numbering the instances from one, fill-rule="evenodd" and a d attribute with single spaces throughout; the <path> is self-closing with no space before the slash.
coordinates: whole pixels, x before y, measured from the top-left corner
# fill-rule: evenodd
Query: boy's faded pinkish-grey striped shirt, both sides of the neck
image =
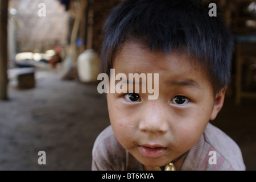
<path id="1" fill-rule="evenodd" d="M 210 162 L 213 154 L 215 162 Z M 112 127 L 98 135 L 92 151 L 92 170 L 142 171 L 143 166 L 114 136 Z M 240 148 L 223 131 L 208 123 L 204 134 L 189 150 L 181 171 L 244 171 L 245 164 Z"/>

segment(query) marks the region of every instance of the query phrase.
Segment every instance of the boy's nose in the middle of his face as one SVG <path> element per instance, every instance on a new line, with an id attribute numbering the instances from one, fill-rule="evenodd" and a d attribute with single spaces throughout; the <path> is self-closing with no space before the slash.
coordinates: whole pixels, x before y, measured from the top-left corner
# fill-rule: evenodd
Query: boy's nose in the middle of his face
<path id="1" fill-rule="evenodd" d="M 163 107 L 150 105 L 143 110 L 139 121 L 139 130 L 143 133 L 163 135 L 168 131 L 168 117 Z"/>

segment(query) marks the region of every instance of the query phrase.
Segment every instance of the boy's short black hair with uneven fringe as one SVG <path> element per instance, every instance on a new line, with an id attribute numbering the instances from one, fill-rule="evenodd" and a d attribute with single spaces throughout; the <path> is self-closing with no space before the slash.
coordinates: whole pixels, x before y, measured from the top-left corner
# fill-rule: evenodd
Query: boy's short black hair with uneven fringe
<path id="1" fill-rule="evenodd" d="M 221 12 L 209 16 L 208 6 L 196 0 L 122 2 L 106 19 L 100 71 L 109 75 L 123 43 L 135 40 L 154 51 L 195 57 L 217 94 L 229 84 L 234 40 Z"/>

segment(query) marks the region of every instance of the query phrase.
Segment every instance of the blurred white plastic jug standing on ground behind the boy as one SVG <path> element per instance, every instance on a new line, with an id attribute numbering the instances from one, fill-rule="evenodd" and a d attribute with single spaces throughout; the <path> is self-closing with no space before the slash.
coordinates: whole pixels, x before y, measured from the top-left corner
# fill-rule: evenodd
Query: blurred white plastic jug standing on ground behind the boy
<path id="1" fill-rule="evenodd" d="M 93 49 L 87 49 L 77 57 L 77 74 L 81 82 L 97 81 L 100 57 Z"/>

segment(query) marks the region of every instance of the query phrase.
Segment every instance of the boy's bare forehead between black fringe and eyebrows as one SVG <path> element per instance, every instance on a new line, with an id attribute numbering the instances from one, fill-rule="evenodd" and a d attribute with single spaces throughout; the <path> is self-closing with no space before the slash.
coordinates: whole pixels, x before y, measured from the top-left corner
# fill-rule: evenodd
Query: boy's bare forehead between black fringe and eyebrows
<path id="1" fill-rule="evenodd" d="M 197 80 L 207 80 L 204 69 L 196 64 L 196 59 L 185 53 L 172 51 L 165 55 L 162 51 L 151 51 L 147 46 L 129 42 L 122 46 L 114 59 L 116 73 L 159 73 L 159 79 L 168 84 L 197 84 Z M 176 84 L 178 85 L 178 84 Z"/>

